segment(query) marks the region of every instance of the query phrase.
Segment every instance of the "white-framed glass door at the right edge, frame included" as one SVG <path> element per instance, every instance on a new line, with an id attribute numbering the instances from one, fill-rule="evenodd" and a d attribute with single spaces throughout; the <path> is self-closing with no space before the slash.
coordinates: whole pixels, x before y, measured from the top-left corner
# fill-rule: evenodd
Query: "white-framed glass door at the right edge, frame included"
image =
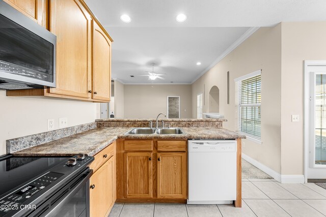
<path id="1" fill-rule="evenodd" d="M 305 61 L 305 181 L 326 179 L 326 61 Z"/>

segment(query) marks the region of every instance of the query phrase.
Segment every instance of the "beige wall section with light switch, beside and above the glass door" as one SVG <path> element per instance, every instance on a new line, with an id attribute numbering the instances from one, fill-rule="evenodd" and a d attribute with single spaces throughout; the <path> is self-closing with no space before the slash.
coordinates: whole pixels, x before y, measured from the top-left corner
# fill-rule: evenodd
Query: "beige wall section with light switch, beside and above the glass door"
<path id="1" fill-rule="evenodd" d="M 282 23 L 282 175 L 304 172 L 304 60 L 326 60 L 326 22 Z"/>

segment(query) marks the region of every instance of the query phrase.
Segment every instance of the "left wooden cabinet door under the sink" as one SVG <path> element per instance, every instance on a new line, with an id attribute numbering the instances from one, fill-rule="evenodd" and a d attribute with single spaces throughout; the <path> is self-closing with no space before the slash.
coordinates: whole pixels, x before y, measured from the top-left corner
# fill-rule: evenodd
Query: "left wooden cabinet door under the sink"
<path id="1" fill-rule="evenodd" d="M 152 152 L 124 153 L 125 198 L 152 198 Z"/>

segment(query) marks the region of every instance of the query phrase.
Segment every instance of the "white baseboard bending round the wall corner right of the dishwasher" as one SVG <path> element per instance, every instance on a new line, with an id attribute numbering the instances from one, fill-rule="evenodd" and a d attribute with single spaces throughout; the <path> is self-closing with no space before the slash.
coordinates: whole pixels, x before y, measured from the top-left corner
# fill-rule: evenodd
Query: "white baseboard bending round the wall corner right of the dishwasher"
<path id="1" fill-rule="evenodd" d="M 242 153 L 242 158 L 250 162 L 250 164 L 254 165 L 261 171 L 267 173 L 271 177 L 273 177 L 275 180 L 281 182 L 281 183 L 305 183 L 305 176 L 304 175 L 281 175 L 278 172 L 275 172 L 274 170 L 270 169 L 269 167 L 266 167 L 261 162 L 255 160 L 254 158 L 251 158 L 250 156 Z"/>

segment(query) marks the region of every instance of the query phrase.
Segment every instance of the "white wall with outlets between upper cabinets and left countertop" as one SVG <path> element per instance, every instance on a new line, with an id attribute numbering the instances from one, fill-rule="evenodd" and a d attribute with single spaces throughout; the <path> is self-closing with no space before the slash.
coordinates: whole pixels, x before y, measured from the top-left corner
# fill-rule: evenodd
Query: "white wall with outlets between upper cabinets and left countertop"
<path id="1" fill-rule="evenodd" d="M 6 153 L 6 140 L 47 131 L 47 119 L 68 118 L 68 127 L 94 122 L 96 104 L 56 98 L 6 96 L 0 90 L 0 155 Z"/>

